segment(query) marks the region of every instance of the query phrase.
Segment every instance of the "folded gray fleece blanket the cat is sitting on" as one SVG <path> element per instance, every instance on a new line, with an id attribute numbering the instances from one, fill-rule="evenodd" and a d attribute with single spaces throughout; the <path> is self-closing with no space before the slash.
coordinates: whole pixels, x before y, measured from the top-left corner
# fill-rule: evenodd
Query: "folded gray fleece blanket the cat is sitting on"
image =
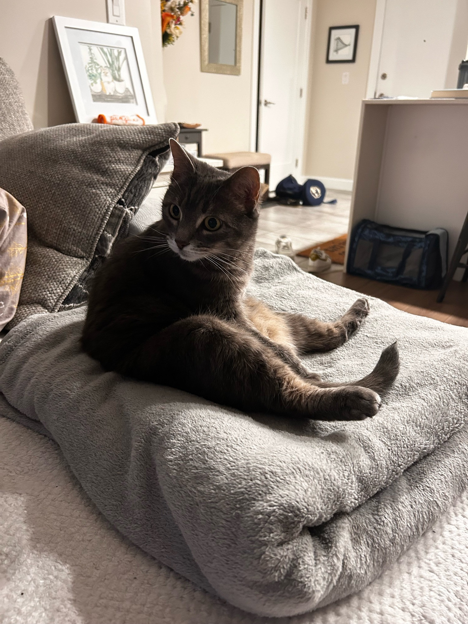
<path id="1" fill-rule="evenodd" d="M 357 296 L 264 250 L 250 295 L 323 320 Z M 49 433 L 107 519 L 173 570 L 250 612 L 306 612 L 371 582 L 468 484 L 468 330 L 370 303 L 348 343 L 305 358 L 358 379 L 397 339 L 401 373 L 368 421 L 243 414 L 103 373 L 80 350 L 83 308 L 7 335 L 0 414 Z"/>

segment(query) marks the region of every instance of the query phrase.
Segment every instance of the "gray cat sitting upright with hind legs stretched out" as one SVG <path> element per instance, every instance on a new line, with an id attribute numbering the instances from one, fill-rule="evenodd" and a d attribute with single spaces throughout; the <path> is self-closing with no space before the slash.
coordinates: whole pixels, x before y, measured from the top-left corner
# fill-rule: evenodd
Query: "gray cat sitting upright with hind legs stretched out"
<path id="1" fill-rule="evenodd" d="M 170 140 L 163 218 L 115 246 L 92 285 L 82 336 L 108 371 L 180 388 L 244 411 L 356 420 L 374 416 L 399 370 L 396 344 L 354 383 L 326 383 L 298 355 L 336 349 L 369 313 L 358 299 L 334 323 L 245 298 L 260 179 L 190 157 Z"/>

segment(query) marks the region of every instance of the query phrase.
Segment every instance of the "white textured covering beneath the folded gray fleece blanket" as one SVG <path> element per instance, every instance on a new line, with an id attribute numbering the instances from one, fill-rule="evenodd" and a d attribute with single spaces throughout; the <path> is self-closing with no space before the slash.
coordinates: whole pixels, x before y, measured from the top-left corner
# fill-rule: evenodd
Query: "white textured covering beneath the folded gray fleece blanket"
<path id="1" fill-rule="evenodd" d="M 227 605 L 113 529 L 59 448 L 0 417 L 2 624 L 466 624 L 468 494 L 372 585 L 269 620 Z"/>

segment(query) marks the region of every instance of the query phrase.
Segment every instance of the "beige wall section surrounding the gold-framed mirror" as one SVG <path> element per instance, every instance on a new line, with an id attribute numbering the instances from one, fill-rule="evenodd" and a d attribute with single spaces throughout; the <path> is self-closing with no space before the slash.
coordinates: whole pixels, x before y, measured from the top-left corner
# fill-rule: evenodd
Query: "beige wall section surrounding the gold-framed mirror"
<path id="1" fill-rule="evenodd" d="M 236 152 L 250 149 L 253 0 L 244 0 L 240 76 L 200 71 L 199 4 L 195 16 L 173 46 L 163 49 L 168 121 L 200 123 L 203 150 Z"/>

